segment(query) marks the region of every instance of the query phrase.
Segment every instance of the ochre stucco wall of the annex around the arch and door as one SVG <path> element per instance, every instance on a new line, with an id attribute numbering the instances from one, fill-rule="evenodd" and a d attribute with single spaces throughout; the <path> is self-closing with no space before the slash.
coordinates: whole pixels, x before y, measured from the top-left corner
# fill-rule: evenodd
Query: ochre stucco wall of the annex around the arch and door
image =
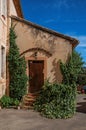
<path id="1" fill-rule="evenodd" d="M 70 41 L 48 33 L 39 28 L 27 25 L 23 22 L 12 20 L 17 35 L 16 43 L 20 49 L 20 53 L 30 48 L 42 48 L 52 54 L 47 56 L 46 53 L 38 52 L 37 57 L 46 59 L 46 77 L 51 82 L 61 82 L 62 75 L 59 66 L 59 60 L 66 62 L 72 52 Z M 27 61 L 33 57 L 34 52 L 25 53 Z"/>

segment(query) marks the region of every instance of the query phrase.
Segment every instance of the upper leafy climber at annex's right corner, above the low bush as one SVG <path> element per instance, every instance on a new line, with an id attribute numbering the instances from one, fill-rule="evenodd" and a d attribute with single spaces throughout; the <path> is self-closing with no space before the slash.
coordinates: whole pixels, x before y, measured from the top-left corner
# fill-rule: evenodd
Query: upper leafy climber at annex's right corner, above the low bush
<path id="1" fill-rule="evenodd" d="M 84 62 L 82 61 L 82 58 L 80 54 L 73 51 L 72 56 L 70 57 L 70 60 L 68 63 L 60 63 L 61 71 L 63 75 L 63 83 L 64 84 L 74 84 L 77 83 L 77 79 L 79 74 L 82 71 L 82 66 Z"/>

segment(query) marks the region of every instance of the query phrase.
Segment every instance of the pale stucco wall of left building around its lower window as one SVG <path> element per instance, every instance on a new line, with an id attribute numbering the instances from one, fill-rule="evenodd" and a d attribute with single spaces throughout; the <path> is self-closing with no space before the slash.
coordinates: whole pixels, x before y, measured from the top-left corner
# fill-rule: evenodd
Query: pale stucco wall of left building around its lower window
<path id="1" fill-rule="evenodd" d="M 1 8 L 0 8 L 1 9 Z M 5 19 L 0 13 L 0 97 L 5 94 L 6 89 L 6 41 L 7 41 L 7 17 Z M 4 47 L 4 73 L 1 76 L 1 48 Z"/>

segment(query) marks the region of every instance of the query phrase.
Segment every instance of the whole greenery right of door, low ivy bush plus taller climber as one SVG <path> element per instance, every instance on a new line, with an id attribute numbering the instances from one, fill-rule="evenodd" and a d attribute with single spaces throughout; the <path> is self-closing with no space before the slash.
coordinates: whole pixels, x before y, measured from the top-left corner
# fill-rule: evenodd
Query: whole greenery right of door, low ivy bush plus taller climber
<path id="1" fill-rule="evenodd" d="M 34 109 L 48 118 L 72 117 L 76 110 L 76 84 L 82 65 L 82 58 L 75 51 L 68 63 L 61 62 L 62 84 L 46 82 L 34 104 Z"/>

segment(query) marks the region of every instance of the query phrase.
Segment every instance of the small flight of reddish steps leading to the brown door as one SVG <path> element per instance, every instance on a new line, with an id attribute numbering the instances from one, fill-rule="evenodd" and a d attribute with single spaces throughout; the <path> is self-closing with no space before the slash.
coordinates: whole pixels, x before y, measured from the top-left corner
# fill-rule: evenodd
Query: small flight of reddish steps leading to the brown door
<path id="1" fill-rule="evenodd" d="M 33 103 L 35 102 L 38 93 L 28 93 L 22 99 L 21 108 L 22 109 L 33 109 Z"/>

